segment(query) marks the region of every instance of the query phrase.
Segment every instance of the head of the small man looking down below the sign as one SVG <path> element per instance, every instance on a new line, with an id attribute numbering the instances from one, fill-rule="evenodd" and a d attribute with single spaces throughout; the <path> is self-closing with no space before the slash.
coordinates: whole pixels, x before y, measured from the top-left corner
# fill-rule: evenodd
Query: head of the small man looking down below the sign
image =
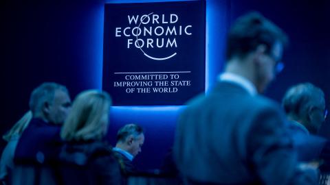
<path id="1" fill-rule="evenodd" d="M 135 157 L 141 152 L 143 143 L 144 134 L 142 127 L 136 124 L 127 124 L 118 130 L 115 147 L 129 152 Z"/>

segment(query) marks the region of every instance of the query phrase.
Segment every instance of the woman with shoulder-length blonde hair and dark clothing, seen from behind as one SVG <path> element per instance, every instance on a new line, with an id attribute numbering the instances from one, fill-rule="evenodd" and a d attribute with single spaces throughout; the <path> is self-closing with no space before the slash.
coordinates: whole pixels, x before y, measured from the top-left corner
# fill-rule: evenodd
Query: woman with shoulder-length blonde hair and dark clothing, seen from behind
<path id="1" fill-rule="evenodd" d="M 62 184 L 120 184 L 120 164 L 102 142 L 109 124 L 110 96 L 86 90 L 74 100 L 61 130 Z"/>

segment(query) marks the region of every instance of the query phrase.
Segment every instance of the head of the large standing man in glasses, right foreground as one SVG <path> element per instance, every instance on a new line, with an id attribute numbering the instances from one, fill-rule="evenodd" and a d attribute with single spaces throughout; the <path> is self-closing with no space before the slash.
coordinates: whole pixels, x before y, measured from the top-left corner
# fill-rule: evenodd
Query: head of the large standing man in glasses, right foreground
<path id="1" fill-rule="evenodd" d="M 258 12 L 237 18 L 228 33 L 227 69 L 250 79 L 259 93 L 283 69 L 281 62 L 287 36 Z"/>

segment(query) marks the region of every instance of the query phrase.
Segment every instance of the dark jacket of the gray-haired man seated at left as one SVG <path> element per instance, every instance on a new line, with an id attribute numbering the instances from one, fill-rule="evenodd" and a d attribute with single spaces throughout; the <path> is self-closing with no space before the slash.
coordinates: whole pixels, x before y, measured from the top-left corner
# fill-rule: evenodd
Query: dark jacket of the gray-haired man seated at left
<path id="1" fill-rule="evenodd" d="M 14 162 L 56 161 L 63 145 L 60 132 L 61 125 L 46 123 L 42 119 L 32 119 L 19 139 Z"/>

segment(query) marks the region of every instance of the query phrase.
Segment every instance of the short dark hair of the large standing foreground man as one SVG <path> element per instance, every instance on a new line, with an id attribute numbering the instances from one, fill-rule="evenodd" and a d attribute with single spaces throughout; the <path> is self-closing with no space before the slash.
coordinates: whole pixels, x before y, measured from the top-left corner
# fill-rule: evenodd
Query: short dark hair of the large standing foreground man
<path id="1" fill-rule="evenodd" d="M 265 45 L 269 52 L 276 41 L 287 45 L 286 34 L 272 21 L 259 12 L 250 12 L 237 18 L 228 33 L 226 45 L 226 60 L 234 56 L 244 58 L 259 45 Z"/>

